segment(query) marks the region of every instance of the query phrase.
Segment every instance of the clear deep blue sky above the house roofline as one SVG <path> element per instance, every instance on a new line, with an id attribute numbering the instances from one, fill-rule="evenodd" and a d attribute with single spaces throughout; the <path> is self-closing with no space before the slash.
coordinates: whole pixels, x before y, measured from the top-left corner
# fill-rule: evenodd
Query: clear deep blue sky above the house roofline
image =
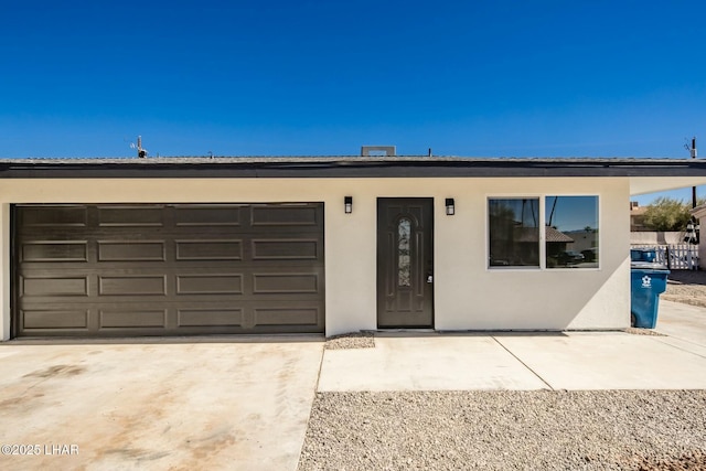
<path id="1" fill-rule="evenodd" d="M 706 156 L 698 1 L 23 1 L 0 158 Z M 689 197 L 685 191 L 684 199 Z"/>

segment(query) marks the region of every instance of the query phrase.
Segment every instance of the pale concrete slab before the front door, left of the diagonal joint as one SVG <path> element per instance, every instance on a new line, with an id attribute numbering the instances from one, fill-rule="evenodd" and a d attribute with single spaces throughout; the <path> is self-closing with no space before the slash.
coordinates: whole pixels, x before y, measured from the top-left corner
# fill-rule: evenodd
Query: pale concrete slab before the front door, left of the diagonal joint
<path id="1" fill-rule="evenodd" d="M 542 389 L 491 335 L 376 336 L 374 349 L 327 350 L 319 392 Z"/>

